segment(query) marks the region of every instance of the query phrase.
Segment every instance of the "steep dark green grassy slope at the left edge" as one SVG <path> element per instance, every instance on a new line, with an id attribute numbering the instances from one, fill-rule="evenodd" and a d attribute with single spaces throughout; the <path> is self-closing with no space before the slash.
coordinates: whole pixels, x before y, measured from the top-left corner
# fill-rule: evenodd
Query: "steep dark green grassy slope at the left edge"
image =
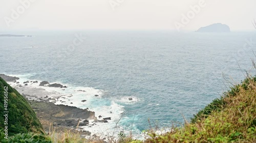
<path id="1" fill-rule="evenodd" d="M 8 87 L 8 106 L 4 106 L 5 87 Z M 7 107 L 8 110 L 5 110 Z M 42 126 L 27 100 L 0 77 L 0 129 L 5 128 L 4 111 L 8 112 L 8 135 L 42 132 Z"/>

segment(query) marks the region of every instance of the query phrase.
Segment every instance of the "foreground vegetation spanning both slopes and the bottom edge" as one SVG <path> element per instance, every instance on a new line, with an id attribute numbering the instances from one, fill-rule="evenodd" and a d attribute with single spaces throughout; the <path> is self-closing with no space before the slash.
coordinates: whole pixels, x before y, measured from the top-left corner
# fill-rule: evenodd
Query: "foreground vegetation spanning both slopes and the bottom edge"
<path id="1" fill-rule="evenodd" d="M 103 142 L 103 140 L 82 139 L 79 133 L 66 131 L 45 135 L 28 133 L 42 130 L 38 119 L 30 105 L 16 90 L 12 89 L 0 78 L 0 92 L 4 93 L 8 86 L 9 99 L 9 133 L 15 134 L 2 142 Z M 3 94 L 1 95 L 1 111 L 4 110 Z M 215 99 L 200 110 L 190 123 L 175 127 L 171 132 L 161 135 L 153 130 L 146 140 L 134 140 L 120 132 L 118 139 L 112 137 L 109 142 L 256 142 L 256 76 L 247 77 L 240 84 L 234 85 L 223 97 Z M 3 114 L 3 113 L 2 113 Z M 1 122 L 4 120 L 1 118 Z M 1 128 L 2 124 L 1 124 Z M 3 132 L 3 129 L 2 131 Z M 23 134 L 20 134 L 23 133 Z"/>

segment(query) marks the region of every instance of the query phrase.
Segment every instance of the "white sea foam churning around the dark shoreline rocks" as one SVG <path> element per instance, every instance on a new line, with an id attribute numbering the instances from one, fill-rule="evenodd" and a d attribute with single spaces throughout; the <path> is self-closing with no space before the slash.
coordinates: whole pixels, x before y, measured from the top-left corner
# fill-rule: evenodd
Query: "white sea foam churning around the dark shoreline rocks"
<path id="1" fill-rule="evenodd" d="M 120 126 L 117 122 L 122 118 L 122 114 L 124 113 L 124 106 L 117 104 L 116 102 L 122 103 L 134 103 L 138 102 L 134 96 L 131 97 L 120 97 L 117 98 L 115 101 L 111 101 L 110 99 L 104 98 L 104 91 L 90 88 L 90 87 L 74 87 L 71 84 L 64 84 L 61 82 L 62 85 L 67 85 L 68 88 L 61 89 L 61 88 L 52 88 L 46 86 L 39 86 L 42 80 L 31 80 L 29 77 L 33 74 L 27 75 L 10 75 L 19 77 L 17 82 L 14 83 L 10 82 L 12 86 L 14 86 L 17 90 L 22 89 L 20 91 L 25 92 L 27 94 L 32 94 L 36 91 L 40 91 L 40 93 L 36 94 L 38 98 L 45 98 L 46 95 L 51 98 L 55 98 L 55 100 L 50 100 L 50 102 L 55 101 L 55 104 L 63 104 L 69 106 L 75 106 L 78 108 L 89 108 L 91 111 L 95 111 L 95 117 L 98 120 L 102 120 L 103 118 L 111 117 L 111 120 L 108 120 L 109 123 L 93 123 L 94 120 L 90 120 L 90 124 L 88 126 L 82 126 L 84 130 L 90 131 L 91 135 L 98 135 L 98 136 L 106 136 L 106 135 L 115 135 L 117 136 L 120 131 L 125 131 L 125 127 Z M 24 82 L 29 81 L 28 85 L 25 85 Z M 33 83 L 30 81 L 38 81 L 37 83 Z M 54 82 L 55 83 L 55 82 Z M 18 85 L 21 84 L 23 87 L 19 87 Z M 52 84 L 52 83 L 50 83 Z M 44 93 L 43 91 L 46 91 Z M 98 95 L 98 96 L 95 96 Z M 133 98 L 133 100 L 129 100 L 128 98 Z M 82 100 L 86 100 L 82 102 Z M 101 116 L 101 118 L 99 118 Z M 126 117 L 127 118 L 127 117 Z M 129 131 L 126 131 L 129 134 Z"/>

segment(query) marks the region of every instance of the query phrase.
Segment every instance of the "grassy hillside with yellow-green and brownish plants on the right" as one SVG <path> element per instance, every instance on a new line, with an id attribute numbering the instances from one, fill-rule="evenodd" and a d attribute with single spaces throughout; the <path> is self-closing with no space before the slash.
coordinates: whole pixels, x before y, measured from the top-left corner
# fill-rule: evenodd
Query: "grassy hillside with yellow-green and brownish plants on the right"
<path id="1" fill-rule="evenodd" d="M 133 142 L 256 142 L 256 77 L 234 85 L 200 110 L 191 123 Z"/>

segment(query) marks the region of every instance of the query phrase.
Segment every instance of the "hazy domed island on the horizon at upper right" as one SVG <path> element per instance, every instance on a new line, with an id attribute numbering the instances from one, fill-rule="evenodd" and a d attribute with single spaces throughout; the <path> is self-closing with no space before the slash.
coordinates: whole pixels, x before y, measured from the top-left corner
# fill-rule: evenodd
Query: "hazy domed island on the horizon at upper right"
<path id="1" fill-rule="evenodd" d="M 224 33 L 224 32 L 230 32 L 230 28 L 226 24 L 222 23 L 215 23 L 211 24 L 205 27 L 199 28 L 196 32 L 216 32 L 216 33 Z"/>

